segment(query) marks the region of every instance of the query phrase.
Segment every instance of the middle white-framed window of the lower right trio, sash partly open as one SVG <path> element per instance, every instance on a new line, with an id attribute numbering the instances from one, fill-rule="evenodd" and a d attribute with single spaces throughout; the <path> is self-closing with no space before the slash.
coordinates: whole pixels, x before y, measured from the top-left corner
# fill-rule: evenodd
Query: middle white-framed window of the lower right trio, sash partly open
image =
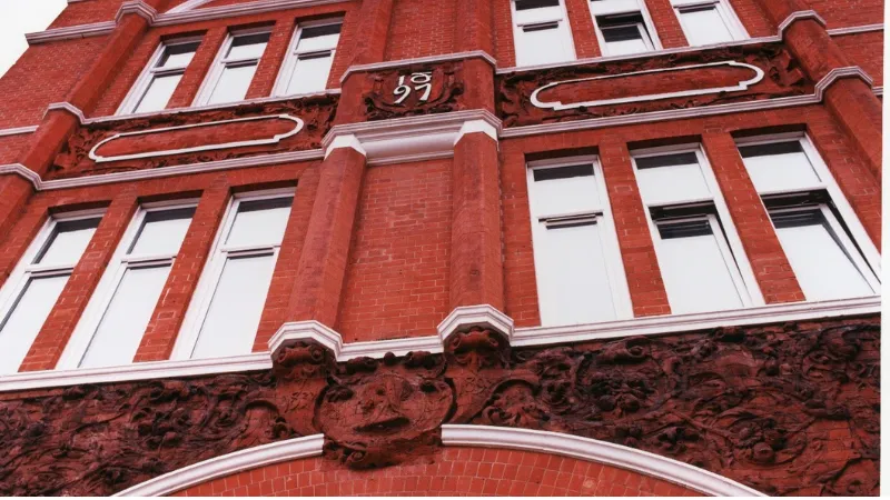
<path id="1" fill-rule="evenodd" d="M 698 144 L 632 152 L 673 313 L 762 306 L 716 178 Z"/>

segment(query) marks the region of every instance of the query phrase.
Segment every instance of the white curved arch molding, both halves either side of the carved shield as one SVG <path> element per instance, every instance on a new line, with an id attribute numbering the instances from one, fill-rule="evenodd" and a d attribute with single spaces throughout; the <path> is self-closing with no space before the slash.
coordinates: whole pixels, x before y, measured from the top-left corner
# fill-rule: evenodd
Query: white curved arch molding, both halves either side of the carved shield
<path id="1" fill-rule="evenodd" d="M 490 426 L 442 426 L 446 447 L 535 451 L 605 463 L 663 479 L 714 497 L 764 497 L 729 478 L 669 458 L 560 432 Z M 215 457 L 130 487 L 115 497 L 159 497 L 259 467 L 318 457 L 323 434 L 313 434 Z"/>

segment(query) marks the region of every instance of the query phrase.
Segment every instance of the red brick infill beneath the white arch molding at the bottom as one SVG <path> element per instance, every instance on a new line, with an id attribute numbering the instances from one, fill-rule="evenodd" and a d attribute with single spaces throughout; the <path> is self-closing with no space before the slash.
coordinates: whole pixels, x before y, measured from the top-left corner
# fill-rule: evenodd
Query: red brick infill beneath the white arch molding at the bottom
<path id="1" fill-rule="evenodd" d="M 701 497 L 701 493 L 596 462 L 532 451 L 446 448 L 429 464 L 354 471 L 322 458 L 214 479 L 175 497 Z"/>

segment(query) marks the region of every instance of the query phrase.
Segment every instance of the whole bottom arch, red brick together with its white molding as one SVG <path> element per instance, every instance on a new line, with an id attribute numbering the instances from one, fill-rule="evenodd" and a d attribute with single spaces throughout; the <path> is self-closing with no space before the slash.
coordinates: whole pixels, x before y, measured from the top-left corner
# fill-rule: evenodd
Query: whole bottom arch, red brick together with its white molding
<path id="1" fill-rule="evenodd" d="M 352 470 L 322 457 L 324 436 L 248 448 L 116 496 L 716 496 L 763 493 L 645 451 L 552 431 L 445 424 L 432 454 Z"/>

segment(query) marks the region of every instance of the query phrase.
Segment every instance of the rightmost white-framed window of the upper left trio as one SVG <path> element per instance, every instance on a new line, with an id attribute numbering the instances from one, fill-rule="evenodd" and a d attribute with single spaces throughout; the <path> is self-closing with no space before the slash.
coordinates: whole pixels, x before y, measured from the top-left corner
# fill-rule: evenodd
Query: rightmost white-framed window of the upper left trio
<path id="1" fill-rule="evenodd" d="M 273 93 L 283 97 L 324 91 L 342 27 L 340 19 L 297 26 Z"/>

